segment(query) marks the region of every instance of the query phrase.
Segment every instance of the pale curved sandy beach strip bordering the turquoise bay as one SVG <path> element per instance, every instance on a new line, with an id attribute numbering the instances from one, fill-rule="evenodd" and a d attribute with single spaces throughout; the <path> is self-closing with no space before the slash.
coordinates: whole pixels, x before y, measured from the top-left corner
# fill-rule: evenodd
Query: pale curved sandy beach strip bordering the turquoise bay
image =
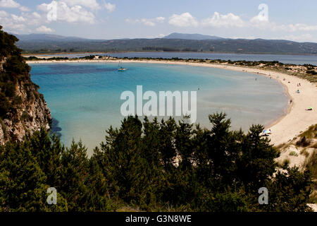
<path id="1" fill-rule="evenodd" d="M 189 66 L 205 66 L 216 69 L 226 69 L 256 73 L 261 76 L 271 76 L 285 87 L 287 95 L 292 100 L 292 105 L 287 109 L 287 114 L 278 121 L 275 121 L 267 129 L 271 129 L 271 143 L 279 145 L 292 140 L 299 133 L 308 129 L 312 124 L 317 124 L 317 87 L 302 78 L 290 76 L 285 73 L 266 71 L 263 69 L 253 69 L 242 66 L 229 66 L 223 64 L 189 63 L 182 61 L 156 61 L 156 60 L 121 60 L 123 63 L 147 63 L 147 64 L 177 64 Z M 50 63 L 118 63 L 118 60 L 62 60 L 62 61 L 27 61 L 27 64 L 50 64 Z M 284 81 L 285 78 L 285 81 Z M 301 86 L 298 87 L 297 84 Z M 300 93 L 296 93 L 299 90 Z M 306 111 L 308 107 L 313 107 L 313 111 Z"/>

